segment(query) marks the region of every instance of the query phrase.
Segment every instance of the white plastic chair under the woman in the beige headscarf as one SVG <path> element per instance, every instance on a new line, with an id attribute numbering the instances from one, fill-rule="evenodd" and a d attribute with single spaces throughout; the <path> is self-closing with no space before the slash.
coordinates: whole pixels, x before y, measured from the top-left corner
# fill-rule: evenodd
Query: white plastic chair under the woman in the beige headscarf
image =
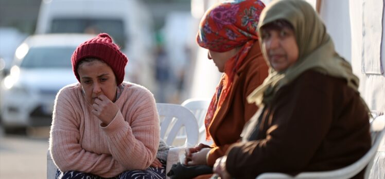
<path id="1" fill-rule="evenodd" d="M 333 178 L 333 179 L 345 179 L 351 178 L 365 169 L 364 178 L 368 178 L 372 165 L 373 159 L 376 155 L 377 149 L 380 145 L 382 138 L 385 135 L 385 116 L 378 116 L 371 122 L 371 136 L 372 136 L 372 147 L 366 152 L 357 162 L 337 170 L 322 171 L 322 172 L 302 172 L 296 176 L 291 176 L 284 173 L 263 173 L 260 174 L 256 179 L 283 179 L 283 178 Z"/>

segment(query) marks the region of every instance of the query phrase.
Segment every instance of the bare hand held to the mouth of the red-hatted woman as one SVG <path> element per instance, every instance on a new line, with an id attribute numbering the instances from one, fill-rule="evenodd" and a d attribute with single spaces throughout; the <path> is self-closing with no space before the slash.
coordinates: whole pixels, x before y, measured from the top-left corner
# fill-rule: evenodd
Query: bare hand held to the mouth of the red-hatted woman
<path id="1" fill-rule="evenodd" d="M 118 112 L 118 106 L 107 96 L 99 95 L 92 104 L 92 114 L 99 118 L 106 126 L 114 119 Z"/>

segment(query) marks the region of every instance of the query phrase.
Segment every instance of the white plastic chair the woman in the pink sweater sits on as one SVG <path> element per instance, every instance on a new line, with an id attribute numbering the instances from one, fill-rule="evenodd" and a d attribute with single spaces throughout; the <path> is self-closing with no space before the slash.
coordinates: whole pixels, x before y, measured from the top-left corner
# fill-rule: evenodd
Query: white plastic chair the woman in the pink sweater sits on
<path id="1" fill-rule="evenodd" d="M 193 113 L 178 104 L 156 103 L 161 125 L 161 138 L 167 145 L 171 146 L 177 139 L 177 134 L 185 127 L 187 138 L 184 145 L 171 148 L 167 156 L 166 173 L 170 171 L 172 164 L 177 164 L 184 159 L 186 147 L 193 147 L 198 144 L 198 123 Z M 55 178 L 58 168 L 47 152 L 47 179 Z M 168 177 L 167 177 L 168 178 Z"/>

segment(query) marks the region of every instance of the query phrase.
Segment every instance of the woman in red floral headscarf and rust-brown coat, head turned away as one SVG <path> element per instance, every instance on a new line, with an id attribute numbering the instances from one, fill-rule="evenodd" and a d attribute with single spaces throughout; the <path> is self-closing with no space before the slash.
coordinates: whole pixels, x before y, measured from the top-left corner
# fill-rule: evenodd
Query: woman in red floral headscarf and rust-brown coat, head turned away
<path id="1" fill-rule="evenodd" d="M 206 138 L 214 144 L 187 149 L 185 165 L 213 166 L 240 139 L 244 124 L 257 111 L 246 98 L 268 75 L 257 37 L 264 7 L 255 0 L 226 1 L 205 13 L 197 42 L 223 72 L 205 118 Z"/>

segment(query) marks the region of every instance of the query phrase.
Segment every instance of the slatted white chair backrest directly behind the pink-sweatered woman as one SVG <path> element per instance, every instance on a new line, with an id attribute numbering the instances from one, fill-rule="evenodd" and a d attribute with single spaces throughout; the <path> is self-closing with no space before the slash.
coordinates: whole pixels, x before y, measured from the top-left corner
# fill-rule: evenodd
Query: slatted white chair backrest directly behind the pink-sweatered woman
<path id="1" fill-rule="evenodd" d="M 156 103 L 156 108 L 161 122 L 161 138 L 167 145 L 173 146 L 173 141 L 178 137 L 185 140 L 185 147 L 198 144 L 198 123 L 191 111 L 179 104 Z M 186 136 L 177 136 L 183 127 Z"/>

